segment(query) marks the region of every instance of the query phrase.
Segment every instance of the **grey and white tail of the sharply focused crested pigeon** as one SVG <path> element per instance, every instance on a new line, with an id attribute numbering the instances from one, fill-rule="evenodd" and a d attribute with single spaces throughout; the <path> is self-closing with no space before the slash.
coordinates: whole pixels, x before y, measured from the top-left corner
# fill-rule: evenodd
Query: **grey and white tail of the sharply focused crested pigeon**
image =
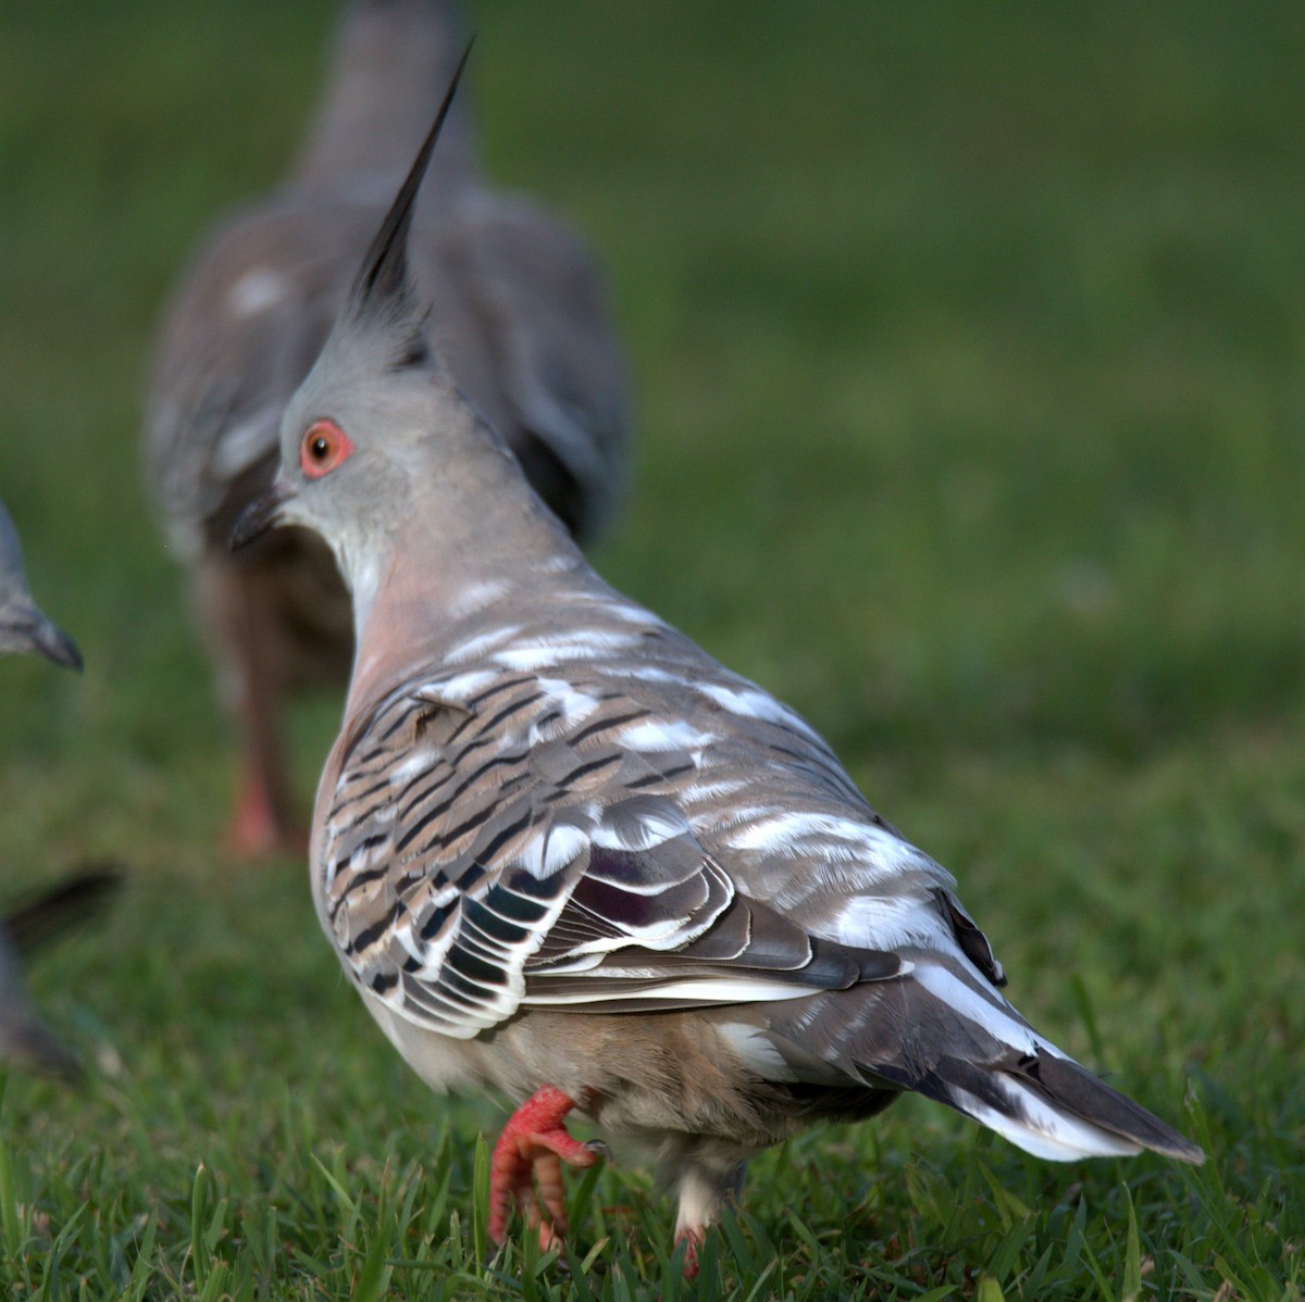
<path id="1" fill-rule="evenodd" d="M 893 1028 L 874 1032 L 863 1046 L 870 1053 L 848 1045 L 867 1083 L 925 1095 L 1052 1161 L 1144 1149 L 1205 1160 L 1195 1144 L 1039 1036 L 968 963 L 919 955 L 908 976 L 867 990 L 877 1006 L 863 1028 L 882 1028 L 885 1015 Z"/>

